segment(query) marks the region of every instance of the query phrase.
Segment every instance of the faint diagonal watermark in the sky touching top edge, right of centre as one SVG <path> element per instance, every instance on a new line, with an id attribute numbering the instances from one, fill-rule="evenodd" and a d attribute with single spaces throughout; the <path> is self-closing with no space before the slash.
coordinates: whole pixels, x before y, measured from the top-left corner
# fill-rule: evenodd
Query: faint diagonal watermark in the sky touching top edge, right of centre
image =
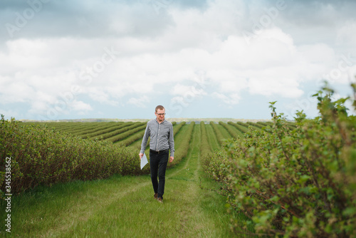
<path id="1" fill-rule="evenodd" d="M 293 0 L 288 0 L 288 1 L 293 1 Z M 273 24 L 273 21 L 275 21 L 278 16 L 280 11 L 283 11 L 287 8 L 288 4 L 287 1 L 285 0 L 278 0 L 276 1 L 275 6 L 272 6 L 270 8 L 265 8 L 263 11 L 265 14 L 260 16 L 258 21 L 253 23 L 251 27 L 251 31 L 243 31 L 242 35 L 244 36 L 244 39 L 246 43 L 249 45 L 251 39 L 257 38 L 259 34 L 262 33 L 263 29 L 267 29 Z"/>

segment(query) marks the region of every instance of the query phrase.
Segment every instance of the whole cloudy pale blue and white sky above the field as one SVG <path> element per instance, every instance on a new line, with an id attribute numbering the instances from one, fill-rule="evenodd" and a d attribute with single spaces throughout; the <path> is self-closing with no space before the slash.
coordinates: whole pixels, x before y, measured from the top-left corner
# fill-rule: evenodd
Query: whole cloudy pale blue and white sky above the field
<path id="1" fill-rule="evenodd" d="M 352 95 L 356 1 L 1 0 L 6 118 L 270 119 Z"/>

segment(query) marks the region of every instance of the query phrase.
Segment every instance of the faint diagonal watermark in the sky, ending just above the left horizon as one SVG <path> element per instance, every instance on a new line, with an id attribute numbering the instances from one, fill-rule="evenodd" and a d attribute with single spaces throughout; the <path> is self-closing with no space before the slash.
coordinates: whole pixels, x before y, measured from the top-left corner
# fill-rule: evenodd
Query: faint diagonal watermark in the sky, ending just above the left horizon
<path id="1" fill-rule="evenodd" d="M 76 96 L 83 91 L 83 86 L 89 86 L 90 83 L 93 82 L 93 78 L 98 78 L 100 73 L 105 71 L 105 68 L 114 62 L 120 54 L 119 51 L 115 51 L 112 47 L 110 49 L 105 47 L 103 48 L 103 51 L 105 51 L 105 53 L 103 53 L 100 60 L 95 61 L 93 66 L 86 67 L 83 71 L 80 71 L 78 77 L 80 83 L 71 86 L 70 90 L 61 93 L 59 96 L 60 99 L 54 103 L 53 107 L 47 110 L 46 115 L 42 115 L 42 118 L 45 120 L 54 120 L 58 118 L 58 115 L 64 113 L 64 111 L 70 108 L 70 105 L 75 102 Z"/>

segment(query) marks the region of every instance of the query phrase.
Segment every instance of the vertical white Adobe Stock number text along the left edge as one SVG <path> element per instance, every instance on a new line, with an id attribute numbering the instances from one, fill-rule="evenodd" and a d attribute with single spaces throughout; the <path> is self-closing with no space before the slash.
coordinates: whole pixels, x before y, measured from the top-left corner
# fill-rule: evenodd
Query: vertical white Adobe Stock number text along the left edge
<path id="1" fill-rule="evenodd" d="M 11 157 L 6 157 L 5 170 L 5 230 L 6 232 L 11 233 Z"/>

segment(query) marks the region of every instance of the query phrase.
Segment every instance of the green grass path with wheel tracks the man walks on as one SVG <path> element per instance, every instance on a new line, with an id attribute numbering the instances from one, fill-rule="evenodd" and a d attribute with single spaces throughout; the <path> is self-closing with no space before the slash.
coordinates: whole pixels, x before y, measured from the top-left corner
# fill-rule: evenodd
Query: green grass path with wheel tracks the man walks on
<path id="1" fill-rule="evenodd" d="M 199 187 L 216 186 L 200 178 L 199 126 L 187 157 L 167 170 L 163 204 L 148 175 L 40 188 L 14 197 L 12 237 L 236 237 L 225 198 Z"/>

